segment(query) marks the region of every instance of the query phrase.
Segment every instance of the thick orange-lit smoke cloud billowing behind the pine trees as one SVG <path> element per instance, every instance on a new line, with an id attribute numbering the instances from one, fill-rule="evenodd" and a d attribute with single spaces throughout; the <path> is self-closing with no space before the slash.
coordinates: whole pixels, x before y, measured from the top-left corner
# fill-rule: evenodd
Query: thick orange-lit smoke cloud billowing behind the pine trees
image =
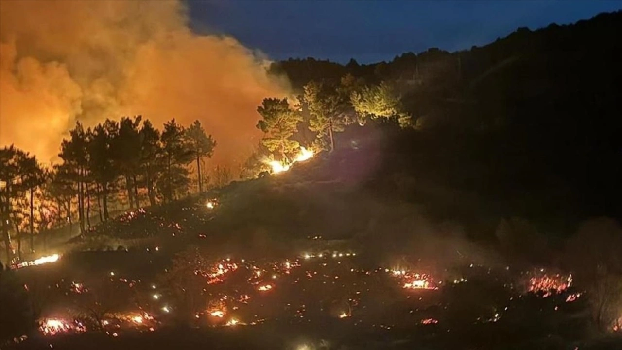
<path id="1" fill-rule="evenodd" d="M 230 37 L 198 35 L 174 1 L 0 2 L 0 144 L 44 163 L 76 120 L 198 119 L 236 168 L 261 134 L 264 97 L 287 84 Z"/>

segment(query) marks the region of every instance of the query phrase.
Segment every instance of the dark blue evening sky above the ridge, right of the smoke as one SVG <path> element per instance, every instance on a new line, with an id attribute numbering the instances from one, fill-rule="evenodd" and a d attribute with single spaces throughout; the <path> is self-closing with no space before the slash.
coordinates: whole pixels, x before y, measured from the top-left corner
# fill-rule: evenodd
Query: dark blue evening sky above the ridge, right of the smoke
<path id="1" fill-rule="evenodd" d="M 429 47 L 468 49 L 518 27 L 567 24 L 622 1 L 190 1 L 193 27 L 225 33 L 272 59 L 360 63 Z"/>

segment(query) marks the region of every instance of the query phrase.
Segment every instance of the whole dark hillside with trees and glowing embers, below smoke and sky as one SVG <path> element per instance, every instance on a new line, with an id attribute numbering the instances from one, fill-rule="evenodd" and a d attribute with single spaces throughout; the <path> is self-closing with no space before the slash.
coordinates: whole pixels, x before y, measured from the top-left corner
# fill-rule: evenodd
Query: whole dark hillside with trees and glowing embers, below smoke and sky
<path id="1" fill-rule="evenodd" d="M 389 63 L 280 62 L 300 106 L 264 100 L 249 179 L 228 186 L 202 181 L 200 125 L 78 125 L 41 181 L 3 149 L 3 180 L 20 175 L 2 192 L 9 265 L 11 237 L 52 227 L 35 191 L 80 234 L 50 247 L 58 262 L 2 271 L 2 348 L 620 348 L 622 47 L 594 38 L 621 16 Z M 266 176 L 300 144 L 317 155 Z M 130 210 L 108 215 L 109 197 Z M 72 327 L 42 335 L 46 319 Z"/>

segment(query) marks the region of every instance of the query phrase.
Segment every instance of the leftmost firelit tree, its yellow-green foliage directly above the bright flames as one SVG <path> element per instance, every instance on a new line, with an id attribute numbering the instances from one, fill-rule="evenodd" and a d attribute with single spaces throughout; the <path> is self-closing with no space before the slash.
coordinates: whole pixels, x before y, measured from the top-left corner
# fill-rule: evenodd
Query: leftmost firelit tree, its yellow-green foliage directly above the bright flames
<path id="1" fill-rule="evenodd" d="M 264 98 L 257 112 L 262 119 L 256 127 L 265 133 L 261 143 L 271 152 L 276 152 L 281 159 L 287 159 L 300 148 L 298 141 L 290 140 L 298 131 L 298 123 L 302 121 L 299 110 L 295 110 L 287 102 L 287 98 Z"/>

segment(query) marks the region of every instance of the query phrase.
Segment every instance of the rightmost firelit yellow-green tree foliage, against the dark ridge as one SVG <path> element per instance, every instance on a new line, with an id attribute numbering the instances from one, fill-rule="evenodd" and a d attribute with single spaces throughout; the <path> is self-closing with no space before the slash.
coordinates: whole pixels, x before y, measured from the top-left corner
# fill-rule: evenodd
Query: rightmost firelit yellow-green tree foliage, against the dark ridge
<path id="1" fill-rule="evenodd" d="M 389 83 L 369 85 L 354 91 L 350 95 L 350 102 L 363 124 L 366 118 L 397 118 L 402 128 L 409 126 L 411 116 L 404 112 L 402 103 L 394 88 Z"/>

